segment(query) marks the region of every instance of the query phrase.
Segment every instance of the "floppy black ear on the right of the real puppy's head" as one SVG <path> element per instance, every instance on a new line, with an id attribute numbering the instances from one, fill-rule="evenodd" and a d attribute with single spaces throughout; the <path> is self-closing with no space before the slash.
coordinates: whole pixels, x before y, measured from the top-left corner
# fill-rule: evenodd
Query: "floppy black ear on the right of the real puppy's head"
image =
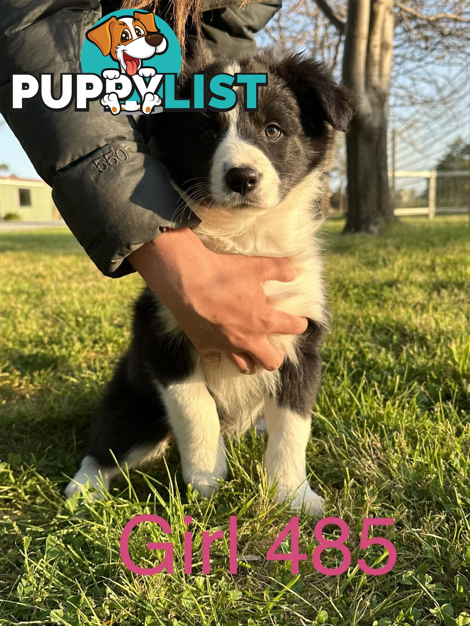
<path id="1" fill-rule="evenodd" d="M 357 97 L 352 90 L 333 80 L 325 64 L 298 53 L 279 62 L 276 73 L 290 86 L 301 112 L 314 126 L 315 121 L 323 120 L 337 130 L 348 130 L 357 111 Z"/>

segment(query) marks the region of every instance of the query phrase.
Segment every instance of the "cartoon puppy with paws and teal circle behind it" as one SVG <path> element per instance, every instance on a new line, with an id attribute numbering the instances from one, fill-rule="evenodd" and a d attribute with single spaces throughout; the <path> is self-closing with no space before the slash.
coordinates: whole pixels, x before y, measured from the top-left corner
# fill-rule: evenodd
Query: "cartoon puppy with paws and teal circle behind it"
<path id="1" fill-rule="evenodd" d="M 81 48 L 81 71 L 98 74 L 115 86 L 100 100 L 104 110 L 114 115 L 156 112 L 162 86 L 141 98 L 134 83 L 145 81 L 150 86 L 159 75 L 179 75 L 180 69 L 181 48 L 175 33 L 148 11 L 123 9 L 105 15 L 86 32 Z"/>

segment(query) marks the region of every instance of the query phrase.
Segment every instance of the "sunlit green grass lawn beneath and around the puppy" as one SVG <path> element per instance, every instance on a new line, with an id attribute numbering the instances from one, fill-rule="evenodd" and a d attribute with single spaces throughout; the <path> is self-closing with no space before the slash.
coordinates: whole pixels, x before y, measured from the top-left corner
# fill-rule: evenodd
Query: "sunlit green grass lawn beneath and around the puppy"
<path id="1" fill-rule="evenodd" d="M 300 516 L 300 552 L 266 552 L 292 513 L 266 488 L 264 438 L 229 446 L 230 478 L 211 500 L 187 490 L 171 449 L 113 485 L 105 501 L 65 500 L 103 385 L 129 339 L 135 275 L 102 277 L 66 230 L 0 235 L 0 623 L 126 626 L 470 623 L 470 228 L 467 218 L 404 220 L 379 237 L 325 225 L 332 330 L 313 408 L 310 483 L 326 513 L 347 521 L 351 566 L 316 572 L 316 520 Z M 138 416 L 135 416 L 138 419 Z M 127 521 L 154 513 L 172 526 L 175 570 L 141 577 L 118 548 Z M 184 575 L 183 516 L 191 515 L 193 574 Z M 201 574 L 201 530 L 238 516 L 238 575 L 226 540 Z M 360 550 L 365 517 L 397 548 Z M 328 526 L 333 539 L 339 529 Z M 227 535 L 227 533 L 226 533 Z M 153 567 L 165 541 L 133 531 L 130 553 Z M 281 550 L 290 551 L 288 540 Z M 338 567 L 336 549 L 322 562 Z"/>

